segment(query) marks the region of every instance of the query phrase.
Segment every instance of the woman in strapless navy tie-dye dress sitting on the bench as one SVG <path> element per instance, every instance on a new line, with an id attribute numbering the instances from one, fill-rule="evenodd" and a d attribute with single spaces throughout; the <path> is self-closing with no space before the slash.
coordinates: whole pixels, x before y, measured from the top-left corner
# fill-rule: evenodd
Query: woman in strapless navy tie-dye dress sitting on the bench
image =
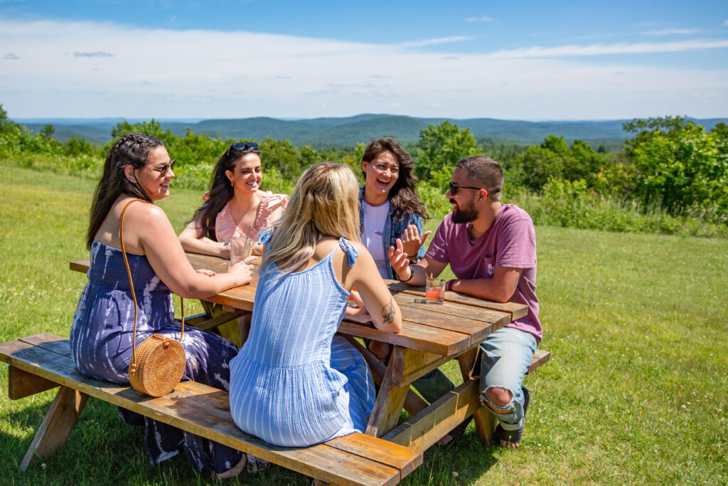
<path id="1" fill-rule="evenodd" d="M 134 302 L 119 239 L 124 216 L 124 245 L 138 305 L 137 345 L 152 333 L 179 339 L 171 291 L 181 297 L 210 297 L 251 280 L 245 263 L 227 273 L 196 272 L 189 264 L 164 211 L 154 201 L 167 197 L 174 160 L 159 139 L 132 133 L 116 141 L 106 157 L 92 200 L 87 246 L 89 282 L 71 326 L 71 355 L 84 375 L 129 383 Z M 210 332 L 187 327 L 182 346 L 187 364 L 184 380 L 228 389 L 230 359 L 237 347 Z M 146 426 L 145 443 L 152 464 L 184 450 L 200 472 L 229 477 L 245 465 L 245 455 L 230 447 L 183 432 L 164 423 L 119 409 L 127 423 Z"/>

